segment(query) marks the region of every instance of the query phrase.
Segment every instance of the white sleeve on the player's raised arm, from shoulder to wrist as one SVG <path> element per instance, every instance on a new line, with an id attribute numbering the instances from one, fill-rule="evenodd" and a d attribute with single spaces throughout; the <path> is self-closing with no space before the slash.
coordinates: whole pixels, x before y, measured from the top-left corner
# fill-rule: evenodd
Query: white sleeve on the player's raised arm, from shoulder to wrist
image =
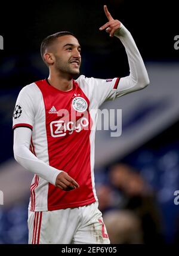
<path id="1" fill-rule="evenodd" d="M 115 36 L 121 40 L 125 47 L 128 57 L 129 75 L 120 79 L 84 78 L 84 76 L 79 78 L 79 81 L 85 79 L 84 85 L 88 84 L 88 91 L 85 87 L 84 89 L 92 100 L 97 101 L 95 106 L 98 107 L 106 100 L 115 100 L 115 98 L 141 90 L 149 85 L 146 67 L 131 33 L 121 23 L 121 27 L 116 30 Z"/>

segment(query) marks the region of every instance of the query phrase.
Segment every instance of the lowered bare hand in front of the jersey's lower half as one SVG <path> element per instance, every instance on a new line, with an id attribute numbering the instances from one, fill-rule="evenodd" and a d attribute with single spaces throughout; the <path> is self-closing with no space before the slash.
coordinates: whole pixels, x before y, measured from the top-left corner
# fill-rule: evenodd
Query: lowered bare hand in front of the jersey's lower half
<path id="1" fill-rule="evenodd" d="M 69 191 L 79 187 L 79 184 L 67 172 L 62 171 L 57 175 L 55 186 L 61 190 Z"/>

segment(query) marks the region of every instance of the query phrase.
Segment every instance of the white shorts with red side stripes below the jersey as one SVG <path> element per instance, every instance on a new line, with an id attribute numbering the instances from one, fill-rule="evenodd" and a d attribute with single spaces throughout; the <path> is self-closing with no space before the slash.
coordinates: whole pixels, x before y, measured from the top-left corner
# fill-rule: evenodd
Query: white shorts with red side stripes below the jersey
<path id="1" fill-rule="evenodd" d="M 98 202 L 78 208 L 32 212 L 29 243 L 110 243 Z"/>

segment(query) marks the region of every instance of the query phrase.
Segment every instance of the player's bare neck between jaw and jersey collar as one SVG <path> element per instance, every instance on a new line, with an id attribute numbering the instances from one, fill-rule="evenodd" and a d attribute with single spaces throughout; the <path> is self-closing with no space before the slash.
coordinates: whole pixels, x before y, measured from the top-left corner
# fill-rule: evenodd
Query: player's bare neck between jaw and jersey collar
<path id="1" fill-rule="evenodd" d="M 48 76 L 48 82 L 51 84 L 51 86 L 61 91 L 69 91 L 73 88 L 73 78 L 66 78 L 64 76 L 61 76 L 60 74 L 53 75 L 50 72 L 50 75 Z"/>

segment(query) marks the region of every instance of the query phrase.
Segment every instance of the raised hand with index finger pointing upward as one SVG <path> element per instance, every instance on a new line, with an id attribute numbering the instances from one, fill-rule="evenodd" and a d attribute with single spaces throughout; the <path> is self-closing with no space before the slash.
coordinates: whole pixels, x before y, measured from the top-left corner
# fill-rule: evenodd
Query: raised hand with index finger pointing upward
<path id="1" fill-rule="evenodd" d="M 114 20 L 113 17 L 110 15 L 109 11 L 107 10 L 107 6 L 104 5 L 104 13 L 108 18 L 108 22 L 100 27 L 100 30 L 106 29 L 106 32 L 113 36 L 116 29 L 121 27 L 121 22 L 119 20 Z"/>

